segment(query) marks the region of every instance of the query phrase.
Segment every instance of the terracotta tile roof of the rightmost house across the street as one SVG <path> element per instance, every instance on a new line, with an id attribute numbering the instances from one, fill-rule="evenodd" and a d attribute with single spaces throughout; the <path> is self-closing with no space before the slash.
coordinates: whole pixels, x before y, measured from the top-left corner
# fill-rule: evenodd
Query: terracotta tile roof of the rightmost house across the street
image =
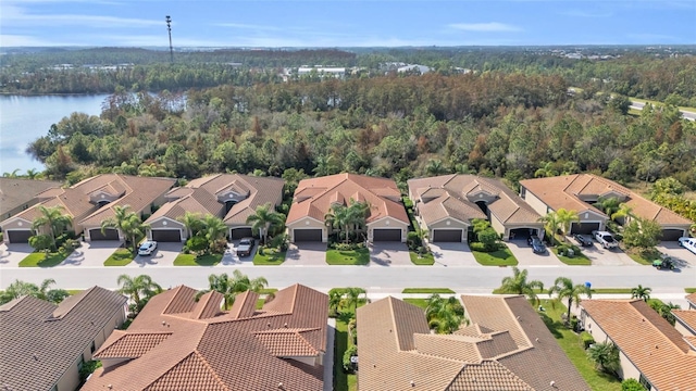
<path id="1" fill-rule="evenodd" d="M 655 220 L 661 225 L 687 226 L 692 224 L 691 220 L 641 197 L 630 189 L 607 178 L 592 174 L 525 179 L 521 180 L 520 185 L 556 211 L 561 207 L 579 213 L 589 210 L 605 215 L 601 211 L 584 202 L 582 199 L 594 201 L 602 195 L 618 193 L 625 197 L 622 201 L 631 206 L 633 213 L 639 217 Z"/>

